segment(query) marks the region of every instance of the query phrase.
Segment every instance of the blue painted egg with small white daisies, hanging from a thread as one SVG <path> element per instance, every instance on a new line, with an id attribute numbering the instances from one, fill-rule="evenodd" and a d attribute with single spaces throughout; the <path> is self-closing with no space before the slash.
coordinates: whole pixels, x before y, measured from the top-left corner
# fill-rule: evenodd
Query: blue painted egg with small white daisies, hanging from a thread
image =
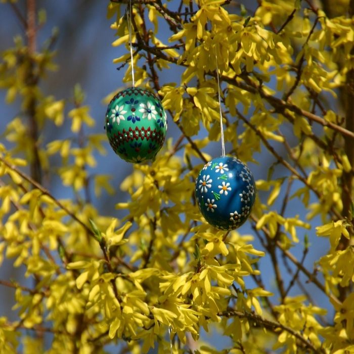
<path id="1" fill-rule="evenodd" d="M 199 172 L 195 196 L 210 225 L 221 230 L 237 229 L 247 220 L 256 198 L 253 175 L 235 157 L 216 157 Z"/>

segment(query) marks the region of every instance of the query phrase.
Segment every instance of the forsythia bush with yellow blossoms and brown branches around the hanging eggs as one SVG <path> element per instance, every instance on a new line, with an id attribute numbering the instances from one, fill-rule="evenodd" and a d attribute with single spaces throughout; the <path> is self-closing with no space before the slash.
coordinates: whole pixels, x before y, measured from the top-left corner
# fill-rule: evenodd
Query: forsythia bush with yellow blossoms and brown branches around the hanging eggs
<path id="1" fill-rule="evenodd" d="M 95 128 L 79 86 L 72 103 L 41 89 L 55 59 L 50 44 L 36 49 L 43 16 L 34 0 L 25 35 L 2 53 L 0 87 L 21 108 L 1 118 L 0 264 L 22 266 L 32 286 L 0 279 L 15 289 L 17 316 L 0 317 L 0 352 L 104 353 L 112 344 L 122 353 L 354 352 L 353 2 L 130 5 L 136 85 L 158 93 L 181 136 L 134 165 L 120 186 L 125 201 L 95 170 L 107 147 L 105 109 Z M 129 2 L 107 6 L 113 46 L 126 48 L 114 63 L 127 67 L 130 84 Z M 267 179 L 255 175 L 252 235 L 208 226 L 194 199 L 212 158 L 203 150 L 220 140 L 216 66 L 227 153 L 272 161 Z M 176 67 L 181 79 L 162 83 L 161 72 Z M 65 120 L 68 137 L 43 144 L 43 128 Z M 43 187 L 51 175 L 72 198 Z M 126 216 L 102 215 L 90 188 L 111 194 Z M 327 252 L 306 268 L 317 244 Z M 200 338 L 202 329 L 229 337 L 223 349 Z"/>

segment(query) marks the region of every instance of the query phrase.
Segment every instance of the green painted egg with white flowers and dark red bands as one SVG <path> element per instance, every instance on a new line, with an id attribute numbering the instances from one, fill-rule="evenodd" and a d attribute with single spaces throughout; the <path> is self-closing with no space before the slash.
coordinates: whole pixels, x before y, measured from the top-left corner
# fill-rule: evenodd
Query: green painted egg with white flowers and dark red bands
<path id="1" fill-rule="evenodd" d="M 148 90 L 130 87 L 113 97 L 106 112 L 109 144 L 127 162 L 153 159 L 166 137 L 167 116 Z"/>

